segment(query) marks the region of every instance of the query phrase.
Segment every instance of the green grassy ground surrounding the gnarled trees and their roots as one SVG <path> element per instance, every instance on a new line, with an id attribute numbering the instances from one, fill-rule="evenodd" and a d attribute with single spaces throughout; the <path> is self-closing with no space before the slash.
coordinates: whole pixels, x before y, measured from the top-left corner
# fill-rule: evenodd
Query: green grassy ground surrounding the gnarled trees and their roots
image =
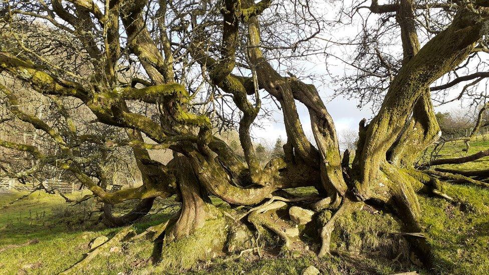
<path id="1" fill-rule="evenodd" d="M 487 140 L 485 140 L 487 139 Z M 471 143 L 469 152 L 461 152 L 463 143 L 443 147 L 443 157 L 472 154 L 489 148 L 489 137 Z M 462 169 L 489 168 L 489 157 L 473 163 L 457 165 Z M 417 270 L 420 273 L 487 274 L 489 270 L 489 190 L 467 185 L 448 185 L 446 193 L 463 201 L 453 204 L 434 197 L 419 196 L 422 221 L 431 244 L 434 270 L 427 272 L 413 264 L 395 259 L 402 251 L 402 239 L 379 237 L 379 232 L 398 230 L 399 225 L 387 214 L 364 208 L 352 213 L 351 219 L 339 221 L 333 235 L 332 248 L 340 251 L 319 260 L 312 251 L 281 251 L 242 257 L 216 257 L 187 270 L 193 274 L 300 274 L 314 264 L 325 274 L 391 274 Z M 114 235 L 120 228 L 106 229 L 96 224 L 97 205 L 88 201 L 68 206 L 59 195 L 35 192 L 9 204 L 26 192 L 0 193 L 0 274 L 56 274 L 79 260 L 90 250 L 89 243 L 98 236 Z M 83 193 L 72 194 L 72 198 Z M 160 201 L 153 212 L 134 226 L 143 231 L 150 225 L 169 218 L 177 211 L 162 209 Z M 363 243 L 355 247 L 355 242 Z M 378 256 L 396 246 L 396 252 Z M 151 274 L 179 273 L 158 268 L 151 262 L 153 244 L 149 241 L 127 242 L 123 252 L 98 256 L 84 274 Z M 361 250 L 358 253 L 357 250 Z M 394 251 L 394 250 L 393 250 Z M 399 253 L 400 255 L 401 253 Z"/>

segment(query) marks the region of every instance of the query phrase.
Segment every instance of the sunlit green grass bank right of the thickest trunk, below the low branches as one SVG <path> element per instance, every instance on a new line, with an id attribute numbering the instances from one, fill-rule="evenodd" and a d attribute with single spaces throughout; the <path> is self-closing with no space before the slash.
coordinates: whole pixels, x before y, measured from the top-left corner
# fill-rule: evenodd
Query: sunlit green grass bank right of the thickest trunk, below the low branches
<path id="1" fill-rule="evenodd" d="M 439 273 L 486 274 L 489 267 L 489 191 L 478 187 L 446 187 L 464 201 L 454 206 L 443 199 L 421 197 L 422 222 Z"/>

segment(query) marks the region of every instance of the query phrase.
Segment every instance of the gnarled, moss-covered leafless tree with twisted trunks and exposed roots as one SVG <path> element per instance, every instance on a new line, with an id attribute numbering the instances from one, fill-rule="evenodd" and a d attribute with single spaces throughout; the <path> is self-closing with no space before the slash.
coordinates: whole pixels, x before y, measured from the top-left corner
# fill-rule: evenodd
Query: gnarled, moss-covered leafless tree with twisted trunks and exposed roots
<path id="1" fill-rule="evenodd" d="M 64 170 L 105 203 L 104 219 L 114 226 L 147 213 L 156 197 L 177 194 L 182 202 L 178 216 L 155 229 L 156 237 L 166 244 L 226 215 L 232 224 L 268 228 L 288 245 L 287 235 L 261 216 L 264 209 L 283 206 L 273 201 L 308 202 L 317 212 L 332 211 L 332 215 L 319 215 L 323 217 L 317 226 L 319 256 L 330 252 L 335 220 L 362 203 L 390 209 L 404 222 L 406 232 L 422 232 L 416 192 L 444 196 L 440 179 L 486 184 L 457 171 L 429 169 L 486 154 L 423 165 L 416 165 L 416 160 L 440 136 L 430 85 L 474 53 L 487 51 L 489 3 L 400 0 L 381 5 L 372 1 L 355 9 L 355 13 L 368 9 L 385 16 L 384 23 L 395 18 L 391 23 L 401 37 L 403 56 L 384 58 L 375 48 L 371 66 L 368 59 L 357 66 L 362 73 L 356 75 L 357 81 L 355 76 L 345 79 L 357 86 L 344 86 L 343 92 L 348 87 L 382 92 L 376 116 L 360 122 L 351 163 L 349 153 L 341 158 L 334 122 L 315 85 L 284 70 L 284 66 L 292 68 L 294 60 L 314 54 L 319 35 L 334 40 L 324 38 L 323 31 L 339 23 L 318 17 L 317 4 L 4 2 L 0 122 L 6 129 L 23 125 L 36 134 L 0 140 L 5 152 L 15 156 L 2 163 L 3 173 L 26 179 L 47 169 Z M 425 26 L 432 32 L 420 43 L 419 11 L 430 10 L 445 16 L 438 18 L 437 30 Z M 367 38 L 361 45 L 369 45 Z M 362 79 L 379 75 L 381 84 L 361 87 L 373 84 Z M 263 115 L 264 98 L 280 107 L 287 142 L 283 157 L 262 166 L 250 127 Z M 302 128 L 298 102 L 309 111 L 315 145 Z M 217 131 L 232 127 L 238 130 L 244 157 L 216 137 Z M 109 191 L 109 178 L 101 166 L 124 148 L 132 151 L 143 184 Z M 148 153 L 151 149 L 169 149 L 173 158 L 167 164 L 155 161 Z M 320 197 L 286 197 L 282 191 L 301 186 L 315 187 Z M 232 215 L 212 206 L 209 195 L 233 207 L 254 207 Z M 133 199 L 139 203 L 128 214 L 111 213 L 111 205 Z M 219 238 L 229 228 L 218 226 L 209 233 L 217 232 Z M 429 251 L 422 241 L 413 245 L 420 252 Z"/>

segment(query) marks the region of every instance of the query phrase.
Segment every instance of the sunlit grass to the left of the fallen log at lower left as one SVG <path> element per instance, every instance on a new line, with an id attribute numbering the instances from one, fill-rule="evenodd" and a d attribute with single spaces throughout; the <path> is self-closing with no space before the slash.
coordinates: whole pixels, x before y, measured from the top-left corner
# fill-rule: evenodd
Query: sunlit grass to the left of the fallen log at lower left
<path id="1" fill-rule="evenodd" d="M 26 192 L 0 194 L 0 205 L 3 206 L 23 194 Z M 22 267 L 33 273 L 63 271 L 72 262 L 83 257 L 87 250 L 87 240 L 113 231 L 85 233 L 83 230 L 66 230 L 63 218 L 53 216 L 53 209 L 63 203 L 61 196 L 36 192 L 0 210 L 0 247 L 39 240 L 36 244 L 12 247 L 0 252 L 1 273 L 15 274 Z M 28 268 L 30 265 L 39 268 Z"/>

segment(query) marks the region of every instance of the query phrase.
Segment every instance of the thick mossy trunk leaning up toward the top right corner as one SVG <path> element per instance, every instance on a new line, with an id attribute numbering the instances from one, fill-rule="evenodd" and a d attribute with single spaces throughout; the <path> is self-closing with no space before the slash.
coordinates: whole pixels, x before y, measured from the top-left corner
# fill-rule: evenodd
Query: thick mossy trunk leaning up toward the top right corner
<path id="1" fill-rule="evenodd" d="M 365 142 L 354 170 L 356 195 L 367 199 L 385 154 L 404 127 L 416 100 L 434 80 L 450 71 L 472 51 L 485 28 L 485 20 L 468 8 L 461 9 L 452 24 L 431 39 L 402 66 L 392 81 L 382 107 L 368 125 Z"/>

